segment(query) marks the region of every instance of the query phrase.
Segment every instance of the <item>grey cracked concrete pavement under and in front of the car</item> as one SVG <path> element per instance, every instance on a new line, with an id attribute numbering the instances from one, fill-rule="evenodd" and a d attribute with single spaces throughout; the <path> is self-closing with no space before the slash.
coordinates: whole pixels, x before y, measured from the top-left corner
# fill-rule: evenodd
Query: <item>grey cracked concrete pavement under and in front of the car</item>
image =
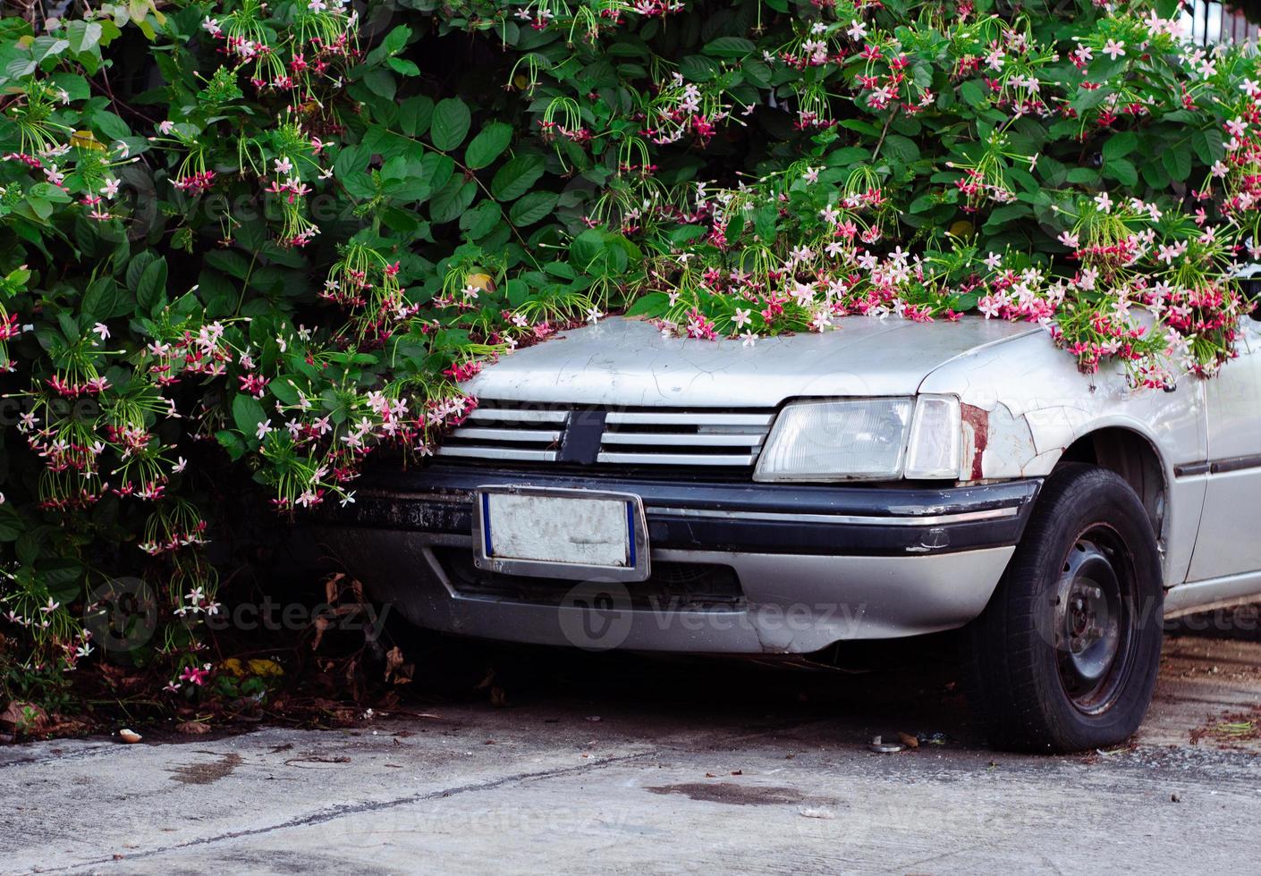
<path id="1" fill-rule="evenodd" d="M 0 872 L 1256 872 L 1261 644 L 1166 643 L 1137 745 L 994 754 L 932 673 L 550 657 L 509 706 L 0 750 Z M 598 720 L 596 720 L 598 718 Z M 944 745 L 869 750 L 874 732 Z M 1198 744 L 1192 744 L 1193 737 Z"/>

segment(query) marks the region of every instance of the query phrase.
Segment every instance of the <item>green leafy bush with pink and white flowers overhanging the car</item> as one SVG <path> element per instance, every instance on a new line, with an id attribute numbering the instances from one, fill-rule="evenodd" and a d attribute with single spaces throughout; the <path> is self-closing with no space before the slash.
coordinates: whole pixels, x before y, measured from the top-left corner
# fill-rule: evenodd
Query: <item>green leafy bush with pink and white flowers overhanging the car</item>
<path id="1" fill-rule="evenodd" d="M 208 497 L 353 502 L 496 357 L 628 310 L 691 337 L 1038 321 L 1163 386 L 1233 354 L 1261 73 L 1178 4 L 173 0 L 0 21 L 6 684 L 142 573 L 214 667 Z M 156 645 L 156 647 L 154 647 Z M 20 678 L 19 678 L 20 677 Z M 18 681 L 15 681 L 18 679 Z M 35 681 L 33 681 L 35 679 Z"/>

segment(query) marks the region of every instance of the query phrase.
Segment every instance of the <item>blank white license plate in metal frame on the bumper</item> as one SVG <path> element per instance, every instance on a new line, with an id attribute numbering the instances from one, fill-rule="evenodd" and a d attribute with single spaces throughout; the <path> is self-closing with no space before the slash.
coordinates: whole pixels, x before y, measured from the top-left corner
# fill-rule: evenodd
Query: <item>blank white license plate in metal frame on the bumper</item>
<path id="1" fill-rule="evenodd" d="M 483 487 L 473 553 L 478 566 L 511 575 L 642 581 L 648 577 L 643 502 L 629 493 Z"/>

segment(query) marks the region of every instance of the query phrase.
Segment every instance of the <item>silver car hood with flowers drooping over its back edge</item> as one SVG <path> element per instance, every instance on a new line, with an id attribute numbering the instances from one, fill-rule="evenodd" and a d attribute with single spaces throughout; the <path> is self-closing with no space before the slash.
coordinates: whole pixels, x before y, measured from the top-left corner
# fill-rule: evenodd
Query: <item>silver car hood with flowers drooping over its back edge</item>
<path id="1" fill-rule="evenodd" d="M 943 363 L 1029 324 L 849 316 L 835 330 L 740 340 L 665 337 L 609 318 L 502 357 L 464 388 L 482 398 L 574 405 L 774 407 L 799 396 L 905 396 Z"/>

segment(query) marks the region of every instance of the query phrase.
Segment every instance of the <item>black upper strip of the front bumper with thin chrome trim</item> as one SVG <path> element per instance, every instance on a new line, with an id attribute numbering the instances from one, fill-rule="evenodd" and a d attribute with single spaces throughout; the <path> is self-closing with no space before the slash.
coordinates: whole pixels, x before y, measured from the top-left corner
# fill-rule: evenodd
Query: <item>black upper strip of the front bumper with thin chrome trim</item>
<path id="1" fill-rule="evenodd" d="M 596 489 L 642 497 L 653 550 L 822 556 L 950 553 L 1015 545 L 1040 479 L 922 489 L 692 483 L 431 465 L 373 473 L 328 523 L 373 529 L 473 531 L 478 487 Z"/>

